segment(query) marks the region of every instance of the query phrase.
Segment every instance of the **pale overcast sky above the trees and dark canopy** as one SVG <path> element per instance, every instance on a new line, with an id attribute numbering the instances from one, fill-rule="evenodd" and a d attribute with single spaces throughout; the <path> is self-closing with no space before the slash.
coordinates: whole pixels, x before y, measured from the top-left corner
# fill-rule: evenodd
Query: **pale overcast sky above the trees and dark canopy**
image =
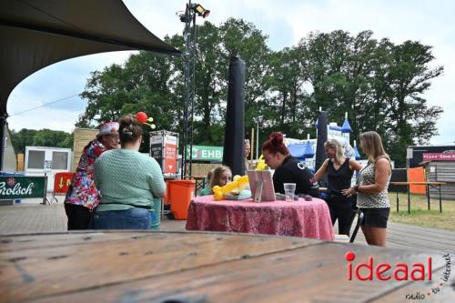
<path id="1" fill-rule="evenodd" d="M 128 0 L 126 6 L 136 18 L 160 38 L 181 34 L 183 23 L 177 11 L 185 9 L 184 0 Z M 455 141 L 455 2 L 450 0 L 201 0 L 211 11 L 207 20 L 219 25 L 228 17 L 243 18 L 268 35 L 273 50 L 296 45 L 311 31 L 342 29 L 351 35 L 372 30 L 374 37 L 389 37 L 396 43 L 417 40 L 433 46 L 434 65 L 444 66 L 444 74 L 431 83 L 424 95 L 430 106 L 442 106 L 438 121 L 440 136 L 432 144 Z M 202 18 L 197 19 L 201 24 Z M 84 113 L 86 101 L 80 94 L 90 72 L 113 63 L 122 64 L 131 52 L 83 56 L 45 67 L 26 78 L 11 94 L 7 110 L 11 129 L 50 128 L 71 132 L 77 116 Z M 66 98 L 50 106 L 20 114 L 45 103 Z"/>

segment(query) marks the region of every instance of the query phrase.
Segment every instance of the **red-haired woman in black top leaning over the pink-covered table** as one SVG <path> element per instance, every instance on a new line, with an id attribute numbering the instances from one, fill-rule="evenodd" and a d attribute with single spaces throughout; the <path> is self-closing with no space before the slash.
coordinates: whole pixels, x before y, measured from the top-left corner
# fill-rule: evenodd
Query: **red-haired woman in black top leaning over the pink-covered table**
<path id="1" fill-rule="evenodd" d="M 296 195 L 320 196 L 318 182 L 303 163 L 290 156 L 281 133 L 274 132 L 268 137 L 262 145 L 262 155 L 268 167 L 275 169 L 273 186 L 276 193 L 284 194 L 284 183 L 295 183 Z"/>

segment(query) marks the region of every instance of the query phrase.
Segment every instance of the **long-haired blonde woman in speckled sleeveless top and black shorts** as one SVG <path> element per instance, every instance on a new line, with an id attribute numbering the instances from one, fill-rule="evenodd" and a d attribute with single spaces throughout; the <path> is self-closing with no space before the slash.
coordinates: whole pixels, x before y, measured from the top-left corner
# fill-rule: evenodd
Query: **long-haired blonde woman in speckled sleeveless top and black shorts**
<path id="1" fill-rule="evenodd" d="M 357 193 L 357 205 L 365 215 L 361 227 L 368 244 L 385 247 L 390 213 L 387 190 L 392 173 L 390 158 L 377 132 L 360 134 L 360 147 L 369 163 L 360 170 L 358 184 L 345 189 L 343 194 L 350 197 Z"/>

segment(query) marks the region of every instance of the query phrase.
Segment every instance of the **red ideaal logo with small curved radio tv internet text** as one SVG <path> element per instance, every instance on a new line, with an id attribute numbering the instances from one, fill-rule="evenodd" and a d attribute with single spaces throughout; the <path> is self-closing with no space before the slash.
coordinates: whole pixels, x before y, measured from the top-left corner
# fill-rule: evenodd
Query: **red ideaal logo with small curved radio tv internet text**
<path id="1" fill-rule="evenodd" d="M 391 278 L 397 281 L 431 281 L 431 270 L 432 263 L 431 257 L 428 257 L 425 264 L 424 263 L 413 263 L 411 266 L 408 266 L 406 263 L 396 263 L 394 266 L 389 263 L 382 262 L 377 265 L 374 264 L 374 258 L 369 257 L 368 262 L 359 262 L 354 268 L 352 266 L 352 261 L 355 260 L 356 255 L 349 251 L 345 254 L 345 258 L 348 261 L 348 280 L 352 280 L 353 276 L 360 281 L 372 280 L 373 276 L 378 278 L 381 281 L 387 281 Z M 440 292 L 440 288 L 444 286 L 444 283 L 449 281 L 450 278 L 450 255 L 444 254 L 443 258 L 446 260 L 446 269 L 442 273 L 440 282 L 429 291 L 426 291 L 427 297 L 431 294 L 437 294 Z M 391 269 L 391 271 L 390 271 Z M 360 274 L 360 271 L 363 271 L 364 275 Z M 366 274 L 365 274 L 366 271 Z M 425 292 L 416 294 L 407 294 L 405 298 L 408 299 L 424 299 Z"/>

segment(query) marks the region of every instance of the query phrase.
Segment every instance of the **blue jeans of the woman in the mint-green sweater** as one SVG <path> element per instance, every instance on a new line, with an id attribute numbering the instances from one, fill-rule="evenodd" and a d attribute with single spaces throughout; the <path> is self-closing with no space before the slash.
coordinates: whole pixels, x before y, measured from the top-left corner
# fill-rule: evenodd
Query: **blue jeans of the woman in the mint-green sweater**
<path id="1" fill-rule="evenodd" d="M 96 211 L 93 229 L 150 229 L 150 211 L 145 208 Z"/>

